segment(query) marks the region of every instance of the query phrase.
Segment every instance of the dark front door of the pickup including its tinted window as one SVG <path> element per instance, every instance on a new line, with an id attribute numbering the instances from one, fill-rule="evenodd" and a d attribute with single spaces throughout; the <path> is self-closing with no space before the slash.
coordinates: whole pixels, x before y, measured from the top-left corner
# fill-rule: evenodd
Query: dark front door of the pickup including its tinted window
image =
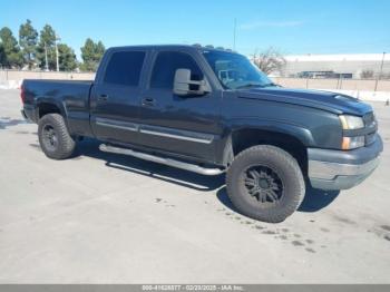
<path id="1" fill-rule="evenodd" d="M 214 159 L 215 145 L 221 137 L 218 124 L 221 91 L 183 97 L 173 91 L 177 69 L 189 69 L 195 79 L 205 78 L 193 56 L 182 51 L 157 51 L 143 93 L 139 143 L 169 154 L 196 160 Z"/>

